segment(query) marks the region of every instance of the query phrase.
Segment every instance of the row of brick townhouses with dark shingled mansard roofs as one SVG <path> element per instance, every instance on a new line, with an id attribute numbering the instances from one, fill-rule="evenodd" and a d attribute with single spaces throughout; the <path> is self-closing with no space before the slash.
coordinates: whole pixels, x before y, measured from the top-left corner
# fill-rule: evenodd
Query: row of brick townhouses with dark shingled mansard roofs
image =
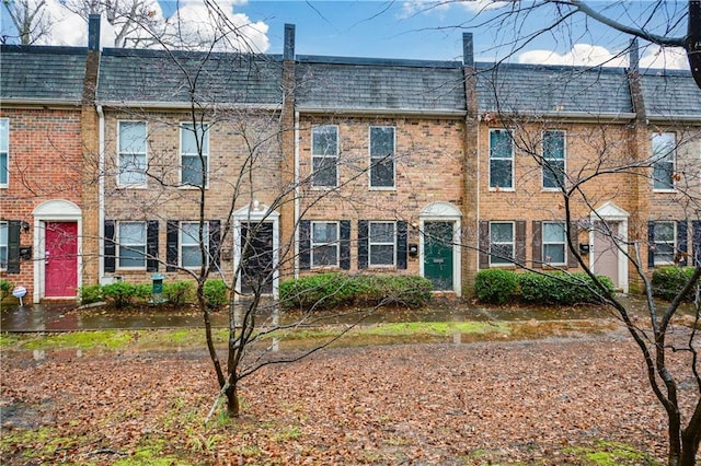
<path id="1" fill-rule="evenodd" d="M 269 272 L 273 295 L 325 270 L 417 273 L 470 294 L 483 268 L 576 270 L 567 240 L 625 292 L 636 248 L 648 272 L 701 259 L 701 90 L 688 72 L 642 72 L 634 55 L 630 69 L 475 63 L 469 34 L 463 60 L 445 62 L 296 55 L 291 25 L 281 56 L 101 50 L 93 30 L 88 49 L 2 47 L 1 273 L 35 301 L 53 296 L 42 232 L 56 219 L 36 190 L 13 189 L 42 170 L 51 186 L 80 182 L 50 197 L 70 202 L 54 217 L 77 222 L 76 287 L 185 278 L 200 234 L 225 277 L 243 266 L 239 291 Z M 74 81 L 47 90 L 60 106 L 27 84 L 49 72 Z M 73 142 L 23 148 L 23 128 Z M 70 174 L 54 163 L 68 152 Z M 19 263 L 18 221 L 33 246 Z"/>

